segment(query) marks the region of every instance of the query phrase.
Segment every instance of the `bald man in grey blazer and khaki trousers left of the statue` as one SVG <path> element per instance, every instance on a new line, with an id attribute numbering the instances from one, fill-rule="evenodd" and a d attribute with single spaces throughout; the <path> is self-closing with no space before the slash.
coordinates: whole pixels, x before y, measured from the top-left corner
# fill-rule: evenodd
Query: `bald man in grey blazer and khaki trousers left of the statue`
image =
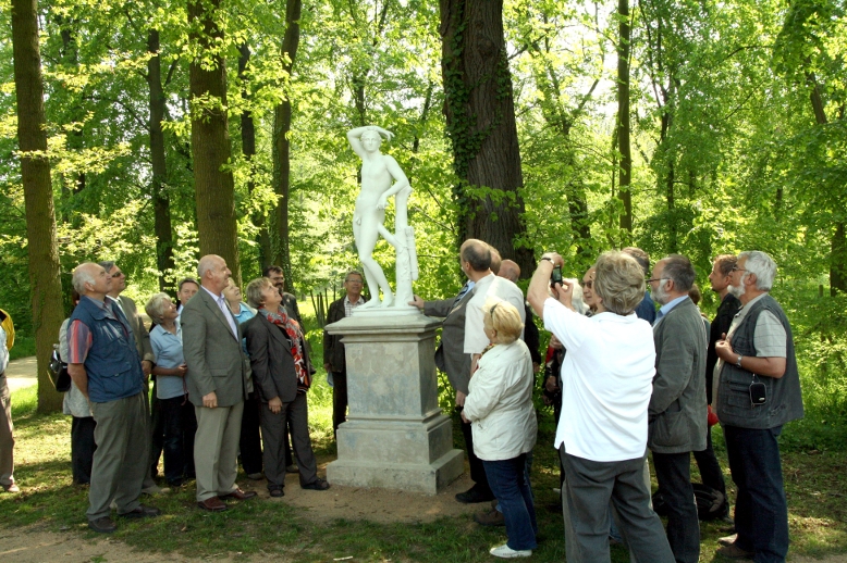
<path id="1" fill-rule="evenodd" d="M 197 265 L 200 290 L 182 311 L 183 353 L 188 399 L 197 414 L 194 465 L 197 504 L 226 510 L 222 498 L 246 500 L 255 491 L 235 485 L 244 400 L 251 391 L 249 364 L 242 352 L 242 333 L 223 288 L 232 272 L 221 257 L 208 254 Z"/>

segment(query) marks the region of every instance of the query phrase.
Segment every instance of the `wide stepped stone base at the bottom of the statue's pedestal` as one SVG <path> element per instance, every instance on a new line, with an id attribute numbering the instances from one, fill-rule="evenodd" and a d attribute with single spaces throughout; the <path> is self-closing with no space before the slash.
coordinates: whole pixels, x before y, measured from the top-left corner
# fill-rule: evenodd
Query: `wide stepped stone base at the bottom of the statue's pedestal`
<path id="1" fill-rule="evenodd" d="M 327 480 L 435 495 L 464 471 L 465 454 L 452 449 L 451 420 L 353 418 L 339 426 L 339 459 Z"/>

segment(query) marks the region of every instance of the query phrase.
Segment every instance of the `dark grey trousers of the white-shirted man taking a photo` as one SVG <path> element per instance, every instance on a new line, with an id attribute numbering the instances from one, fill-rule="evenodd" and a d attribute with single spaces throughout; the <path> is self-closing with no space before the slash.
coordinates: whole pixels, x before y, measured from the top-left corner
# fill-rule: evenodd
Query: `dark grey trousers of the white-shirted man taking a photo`
<path id="1" fill-rule="evenodd" d="M 564 445 L 558 455 L 565 466 L 562 508 L 568 563 L 609 561 L 610 499 L 621 534 L 637 561 L 671 563 L 674 560 L 662 521 L 650 509 L 643 456 L 597 462 L 566 453 Z"/>

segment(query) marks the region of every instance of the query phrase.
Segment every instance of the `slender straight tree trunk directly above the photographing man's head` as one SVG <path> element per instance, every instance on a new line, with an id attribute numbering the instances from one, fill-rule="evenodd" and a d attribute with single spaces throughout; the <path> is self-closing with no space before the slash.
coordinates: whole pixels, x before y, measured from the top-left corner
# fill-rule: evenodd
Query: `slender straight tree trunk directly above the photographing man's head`
<path id="1" fill-rule="evenodd" d="M 617 148 L 621 151 L 617 193 L 624 207 L 621 228 L 633 234 L 633 150 L 629 146 L 629 0 L 617 0 Z"/>

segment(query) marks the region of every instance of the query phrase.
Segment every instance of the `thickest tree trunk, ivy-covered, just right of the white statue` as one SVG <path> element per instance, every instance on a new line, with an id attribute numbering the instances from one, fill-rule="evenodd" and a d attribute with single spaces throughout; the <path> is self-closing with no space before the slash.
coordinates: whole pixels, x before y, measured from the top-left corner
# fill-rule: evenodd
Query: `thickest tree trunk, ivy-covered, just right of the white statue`
<path id="1" fill-rule="evenodd" d="M 503 2 L 440 0 L 439 7 L 444 114 L 461 180 L 455 190 L 459 237 L 482 239 L 521 271 L 532 272 L 532 250 L 515 246 L 526 232 L 518 192 L 524 179 Z"/>

